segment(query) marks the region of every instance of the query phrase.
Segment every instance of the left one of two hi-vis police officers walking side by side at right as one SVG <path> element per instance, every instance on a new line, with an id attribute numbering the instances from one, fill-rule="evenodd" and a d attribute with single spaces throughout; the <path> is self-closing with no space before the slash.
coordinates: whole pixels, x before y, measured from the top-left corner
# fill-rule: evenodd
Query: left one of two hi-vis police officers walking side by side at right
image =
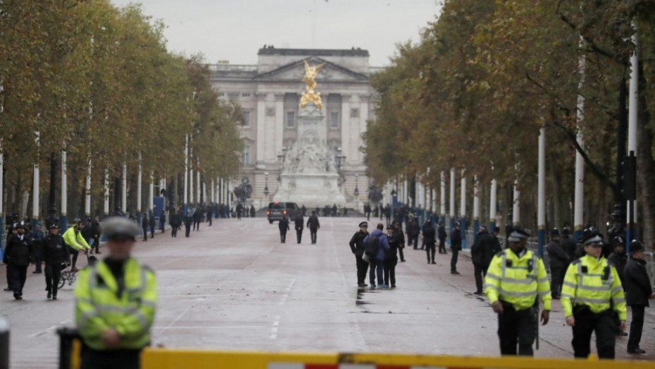
<path id="1" fill-rule="evenodd" d="M 535 321 L 539 309 L 537 295 L 544 310 L 541 321 L 546 325 L 550 316 L 551 293 L 544 261 L 527 250 L 529 234 L 518 227 L 509 232 L 509 248 L 496 254 L 485 278 L 485 294 L 498 313 L 498 336 L 501 355 L 533 356 Z"/>

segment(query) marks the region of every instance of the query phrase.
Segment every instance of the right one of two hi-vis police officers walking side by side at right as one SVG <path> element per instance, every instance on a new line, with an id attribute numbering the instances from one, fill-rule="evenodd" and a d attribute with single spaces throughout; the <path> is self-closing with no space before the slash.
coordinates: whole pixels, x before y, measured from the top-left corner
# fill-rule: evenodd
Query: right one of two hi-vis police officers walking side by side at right
<path id="1" fill-rule="evenodd" d="M 620 330 L 625 331 L 626 327 L 623 287 L 616 268 L 601 254 L 601 233 L 596 228 L 587 228 L 580 243 L 586 254 L 568 266 L 562 287 L 566 324 L 573 327 L 573 351 L 576 358 L 589 356 L 592 332 L 596 332 L 599 358 L 614 358 L 613 311 L 618 313 Z"/>

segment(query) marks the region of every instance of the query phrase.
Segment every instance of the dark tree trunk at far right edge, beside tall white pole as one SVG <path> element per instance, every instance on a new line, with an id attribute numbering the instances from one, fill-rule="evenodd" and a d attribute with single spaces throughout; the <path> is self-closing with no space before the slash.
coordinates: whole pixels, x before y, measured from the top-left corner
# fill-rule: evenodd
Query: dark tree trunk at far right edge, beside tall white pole
<path id="1" fill-rule="evenodd" d="M 639 64 L 639 91 L 646 91 L 644 66 Z M 650 113 L 646 105 L 645 93 L 639 94 L 639 110 L 637 119 L 637 179 L 642 203 L 642 240 L 650 250 L 655 250 L 655 160 L 653 160 L 653 139 Z"/>

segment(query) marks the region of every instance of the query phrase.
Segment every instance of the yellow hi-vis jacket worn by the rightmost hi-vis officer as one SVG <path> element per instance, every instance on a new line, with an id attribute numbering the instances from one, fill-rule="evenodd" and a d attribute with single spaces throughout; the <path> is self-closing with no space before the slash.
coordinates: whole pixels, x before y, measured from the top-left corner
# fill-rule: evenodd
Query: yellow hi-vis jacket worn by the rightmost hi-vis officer
<path id="1" fill-rule="evenodd" d="M 568 266 L 561 302 L 567 317 L 573 315 L 575 305 L 587 305 L 592 313 L 601 313 L 610 309 L 610 302 L 621 321 L 628 316 L 621 280 L 616 268 L 604 257 L 586 255 Z"/>

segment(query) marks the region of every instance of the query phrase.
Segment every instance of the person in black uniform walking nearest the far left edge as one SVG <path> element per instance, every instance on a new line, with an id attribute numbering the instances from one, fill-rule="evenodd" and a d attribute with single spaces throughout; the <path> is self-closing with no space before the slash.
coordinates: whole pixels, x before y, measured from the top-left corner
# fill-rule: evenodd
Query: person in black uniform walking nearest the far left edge
<path id="1" fill-rule="evenodd" d="M 11 265 L 10 284 L 13 291 L 13 298 L 23 299 L 23 287 L 27 278 L 27 266 L 34 257 L 34 246 L 32 239 L 25 234 L 25 222 L 21 221 L 17 226 L 17 234 L 11 235 L 7 240 L 3 262 Z"/>

